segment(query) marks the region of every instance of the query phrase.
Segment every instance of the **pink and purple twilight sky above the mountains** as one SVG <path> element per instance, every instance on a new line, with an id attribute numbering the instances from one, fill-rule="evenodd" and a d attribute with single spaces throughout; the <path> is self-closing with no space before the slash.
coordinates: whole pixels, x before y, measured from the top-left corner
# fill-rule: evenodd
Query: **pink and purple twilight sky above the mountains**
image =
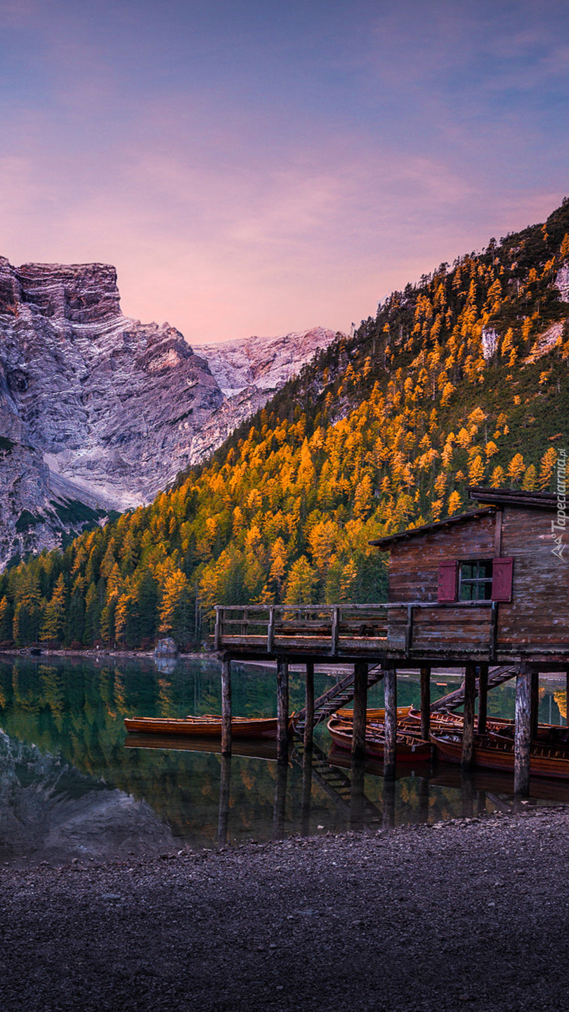
<path id="1" fill-rule="evenodd" d="M 544 0 L 0 0 L 0 252 L 191 342 L 346 329 L 565 195 Z"/>

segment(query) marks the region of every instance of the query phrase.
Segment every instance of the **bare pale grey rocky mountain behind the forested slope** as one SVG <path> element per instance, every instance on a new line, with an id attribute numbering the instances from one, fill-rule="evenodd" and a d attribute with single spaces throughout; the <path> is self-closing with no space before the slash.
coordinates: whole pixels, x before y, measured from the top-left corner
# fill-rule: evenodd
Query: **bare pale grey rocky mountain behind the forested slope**
<path id="1" fill-rule="evenodd" d="M 0 565 L 151 501 L 334 336 L 209 347 L 212 369 L 174 327 L 123 316 L 113 267 L 0 258 Z"/>

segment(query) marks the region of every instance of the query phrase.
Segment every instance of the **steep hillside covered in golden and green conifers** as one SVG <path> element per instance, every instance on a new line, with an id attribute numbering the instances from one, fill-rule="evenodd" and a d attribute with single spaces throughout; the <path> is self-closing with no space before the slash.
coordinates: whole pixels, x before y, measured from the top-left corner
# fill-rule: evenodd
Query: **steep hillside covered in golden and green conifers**
<path id="1" fill-rule="evenodd" d="M 151 506 L 4 573 L 0 641 L 185 644 L 215 602 L 381 599 L 371 538 L 468 485 L 553 488 L 568 317 L 566 199 L 394 292 Z"/>

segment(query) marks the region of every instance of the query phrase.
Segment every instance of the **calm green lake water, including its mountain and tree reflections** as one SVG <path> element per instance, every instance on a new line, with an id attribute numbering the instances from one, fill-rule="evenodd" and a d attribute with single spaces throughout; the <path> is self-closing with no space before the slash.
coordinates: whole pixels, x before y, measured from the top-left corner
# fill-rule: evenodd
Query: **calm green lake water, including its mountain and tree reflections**
<path id="1" fill-rule="evenodd" d="M 316 693 L 335 681 L 315 674 Z M 432 698 L 460 675 L 433 674 Z M 236 714 L 275 714 L 274 671 L 232 668 Z M 489 695 L 489 711 L 512 716 L 514 682 Z M 565 681 L 544 678 L 540 720 L 564 723 Z M 399 705 L 418 703 L 417 675 L 398 680 Z M 304 703 L 304 676 L 291 673 L 291 708 Z M 369 704 L 383 704 L 375 687 Z M 177 661 L 28 657 L 0 660 L 0 860 L 108 859 L 233 845 L 302 833 L 371 830 L 406 822 L 473 816 L 513 804 L 511 778 L 491 772 L 461 778 L 458 767 L 350 769 L 349 756 L 327 759 L 329 736 L 317 729 L 311 763 L 293 749 L 279 768 L 271 743 L 230 762 L 218 751 L 130 747 L 128 715 L 184 716 L 221 711 L 220 666 Z M 527 804 L 569 802 L 569 784 L 534 780 Z"/>

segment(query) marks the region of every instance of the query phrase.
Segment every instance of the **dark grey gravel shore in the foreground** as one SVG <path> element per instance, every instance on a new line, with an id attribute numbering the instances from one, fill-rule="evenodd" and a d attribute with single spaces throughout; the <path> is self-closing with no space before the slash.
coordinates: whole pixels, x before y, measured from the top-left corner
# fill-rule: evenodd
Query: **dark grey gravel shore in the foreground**
<path id="1" fill-rule="evenodd" d="M 569 809 L 0 870 L 4 1012 L 568 1004 Z"/>

